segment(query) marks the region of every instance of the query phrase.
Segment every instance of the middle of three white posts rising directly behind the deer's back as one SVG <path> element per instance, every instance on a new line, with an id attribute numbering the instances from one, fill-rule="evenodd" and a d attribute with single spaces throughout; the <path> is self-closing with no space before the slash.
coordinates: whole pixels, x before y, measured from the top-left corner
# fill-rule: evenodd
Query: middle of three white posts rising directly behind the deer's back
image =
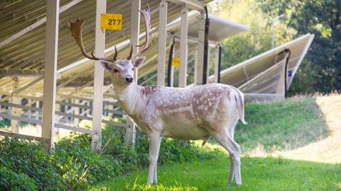
<path id="1" fill-rule="evenodd" d="M 185 88 L 187 85 L 187 57 L 188 57 L 188 7 L 183 4 L 181 11 L 181 28 L 180 28 L 180 66 L 179 66 L 179 87 Z"/>

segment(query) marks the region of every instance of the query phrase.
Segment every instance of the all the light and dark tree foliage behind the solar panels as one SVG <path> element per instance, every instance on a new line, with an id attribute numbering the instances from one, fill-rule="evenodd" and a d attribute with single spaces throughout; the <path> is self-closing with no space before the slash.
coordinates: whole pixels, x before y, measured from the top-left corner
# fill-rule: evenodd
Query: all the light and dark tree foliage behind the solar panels
<path id="1" fill-rule="evenodd" d="M 291 95 L 341 90 L 341 1 L 218 0 L 210 8 L 212 14 L 250 28 L 222 42 L 223 68 L 270 50 L 272 19 L 286 13 L 285 20 L 276 22 L 276 45 L 306 33 L 315 35 Z"/>

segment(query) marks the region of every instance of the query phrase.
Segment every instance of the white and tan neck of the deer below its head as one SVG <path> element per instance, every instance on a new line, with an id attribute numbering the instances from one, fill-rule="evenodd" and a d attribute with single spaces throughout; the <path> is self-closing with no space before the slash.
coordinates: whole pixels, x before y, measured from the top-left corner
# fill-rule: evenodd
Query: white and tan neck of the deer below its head
<path id="1" fill-rule="evenodd" d="M 125 86 L 120 86 L 119 84 L 114 85 L 114 92 L 119 100 L 119 105 L 126 112 L 127 115 L 136 115 L 141 108 L 143 108 L 143 102 L 141 101 L 143 97 L 143 91 L 141 86 L 137 85 L 135 82 L 126 84 Z"/>

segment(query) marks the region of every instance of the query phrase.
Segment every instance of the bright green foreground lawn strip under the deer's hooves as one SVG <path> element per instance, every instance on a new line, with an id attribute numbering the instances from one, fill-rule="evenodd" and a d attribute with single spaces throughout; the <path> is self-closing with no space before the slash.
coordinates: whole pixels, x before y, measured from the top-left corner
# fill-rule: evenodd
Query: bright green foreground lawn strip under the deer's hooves
<path id="1" fill-rule="evenodd" d="M 283 158 L 242 158 L 242 186 L 227 185 L 229 160 L 158 168 L 158 184 L 146 185 L 147 170 L 120 176 L 92 190 L 341 190 L 341 165 Z"/>

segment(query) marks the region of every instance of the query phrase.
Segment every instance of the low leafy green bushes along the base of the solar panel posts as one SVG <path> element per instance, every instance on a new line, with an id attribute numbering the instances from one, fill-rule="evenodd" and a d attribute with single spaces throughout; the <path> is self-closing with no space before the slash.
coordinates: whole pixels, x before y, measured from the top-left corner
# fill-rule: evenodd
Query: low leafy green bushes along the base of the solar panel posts
<path id="1" fill-rule="evenodd" d="M 102 134 L 103 149 L 99 153 L 92 152 L 89 134 L 72 133 L 56 143 L 50 154 L 34 141 L 0 140 L 1 170 L 7 170 L 6 176 L 18 177 L 13 183 L 0 181 L 0 187 L 23 182 L 26 183 L 23 186 L 32 186 L 32 190 L 79 190 L 148 166 L 148 138 L 144 134 L 137 133 L 134 148 L 124 146 L 124 129 L 105 127 Z M 190 141 L 163 139 L 158 163 L 207 156 L 210 154 L 200 151 Z"/>

